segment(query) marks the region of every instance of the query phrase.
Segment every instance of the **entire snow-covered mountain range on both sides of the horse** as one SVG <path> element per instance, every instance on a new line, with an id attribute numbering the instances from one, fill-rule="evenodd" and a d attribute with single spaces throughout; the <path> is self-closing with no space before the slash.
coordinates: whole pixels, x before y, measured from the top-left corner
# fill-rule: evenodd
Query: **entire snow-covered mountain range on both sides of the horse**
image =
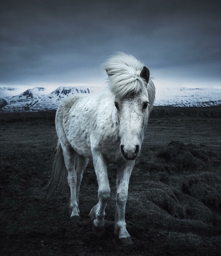
<path id="1" fill-rule="evenodd" d="M 0 94 L 0 109 L 4 111 L 56 110 L 65 97 L 72 94 L 96 94 L 104 87 L 58 87 L 46 94 L 42 87 L 28 89 L 11 98 Z M 1 92 L 1 91 L 0 91 Z M 1 98 L 2 97 L 2 98 Z M 221 105 L 221 89 L 214 88 L 156 88 L 155 106 L 214 106 Z"/>

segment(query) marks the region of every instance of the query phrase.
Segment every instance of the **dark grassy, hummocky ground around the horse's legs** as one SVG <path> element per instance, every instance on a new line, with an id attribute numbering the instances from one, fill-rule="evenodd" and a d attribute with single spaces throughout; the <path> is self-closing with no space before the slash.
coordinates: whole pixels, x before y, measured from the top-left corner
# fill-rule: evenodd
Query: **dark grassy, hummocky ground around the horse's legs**
<path id="1" fill-rule="evenodd" d="M 113 234 L 114 166 L 101 238 L 88 218 L 98 189 L 91 161 L 80 223 L 69 219 L 67 186 L 42 199 L 57 142 L 54 116 L 0 113 L 1 255 L 221 255 L 221 106 L 153 111 L 129 184 L 129 247 Z"/>

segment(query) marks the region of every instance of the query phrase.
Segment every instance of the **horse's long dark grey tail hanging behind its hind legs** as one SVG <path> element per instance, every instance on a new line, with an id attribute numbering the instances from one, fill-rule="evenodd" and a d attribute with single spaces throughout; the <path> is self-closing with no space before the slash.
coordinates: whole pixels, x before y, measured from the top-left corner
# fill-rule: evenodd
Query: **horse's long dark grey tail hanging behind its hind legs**
<path id="1" fill-rule="evenodd" d="M 65 167 L 64 155 L 61 148 L 61 143 L 59 141 L 55 151 L 56 151 L 56 154 L 55 154 L 54 163 L 52 167 L 52 175 L 50 177 L 48 184 L 45 187 L 46 192 L 45 192 L 44 198 L 46 197 L 50 198 L 54 194 L 54 192 L 56 192 L 56 194 L 60 193 L 64 188 L 64 184 L 67 176 L 67 169 Z"/>

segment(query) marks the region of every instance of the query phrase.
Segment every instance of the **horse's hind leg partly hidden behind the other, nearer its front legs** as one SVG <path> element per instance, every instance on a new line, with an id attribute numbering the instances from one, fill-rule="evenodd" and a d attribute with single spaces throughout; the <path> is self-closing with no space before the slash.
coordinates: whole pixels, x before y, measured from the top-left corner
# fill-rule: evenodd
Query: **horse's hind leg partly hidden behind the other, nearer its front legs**
<path id="1" fill-rule="evenodd" d="M 81 180 L 83 177 L 83 172 L 86 169 L 88 165 L 88 158 L 82 157 L 81 155 L 77 154 L 77 160 L 76 160 L 76 174 L 77 174 L 77 183 L 76 183 L 76 200 L 77 200 L 77 211 L 80 216 L 79 211 L 79 191 L 80 191 L 80 185 Z"/>

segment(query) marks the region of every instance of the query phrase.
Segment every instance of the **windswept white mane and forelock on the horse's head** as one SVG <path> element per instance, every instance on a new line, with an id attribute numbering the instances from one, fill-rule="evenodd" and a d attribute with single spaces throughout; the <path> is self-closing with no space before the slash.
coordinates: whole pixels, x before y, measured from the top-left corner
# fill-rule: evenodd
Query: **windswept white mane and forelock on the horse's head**
<path id="1" fill-rule="evenodd" d="M 144 68 L 134 56 L 123 52 L 117 52 L 110 56 L 102 65 L 108 75 L 109 89 L 117 97 L 125 97 L 132 93 L 148 90 L 150 110 L 153 108 L 155 100 L 155 86 L 152 80 L 147 84 L 141 78 L 140 72 Z"/>

